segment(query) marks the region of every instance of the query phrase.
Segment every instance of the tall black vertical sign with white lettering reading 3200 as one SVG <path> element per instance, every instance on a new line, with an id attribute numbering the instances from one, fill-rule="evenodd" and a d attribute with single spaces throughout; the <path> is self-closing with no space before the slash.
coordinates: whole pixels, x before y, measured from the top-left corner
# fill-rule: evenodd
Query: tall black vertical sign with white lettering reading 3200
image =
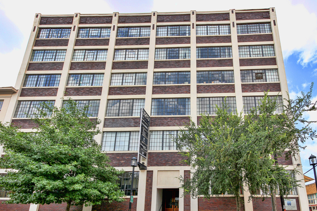
<path id="1" fill-rule="evenodd" d="M 150 129 L 151 117 L 146 113 L 144 109 L 141 109 L 141 123 L 140 123 L 140 134 L 139 134 L 139 151 L 138 151 L 138 162 L 139 155 L 143 158 L 147 158 L 147 147 L 149 141 L 149 129 Z"/>

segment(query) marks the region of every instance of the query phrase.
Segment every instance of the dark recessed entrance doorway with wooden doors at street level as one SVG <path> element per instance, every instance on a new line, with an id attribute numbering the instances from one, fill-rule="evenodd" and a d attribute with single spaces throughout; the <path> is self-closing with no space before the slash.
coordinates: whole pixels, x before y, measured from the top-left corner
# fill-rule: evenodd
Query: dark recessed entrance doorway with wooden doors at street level
<path id="1" fill-rule="evenodd" d="M 179 189 L 163 189 L 163 211 L 178 211 Z"/>

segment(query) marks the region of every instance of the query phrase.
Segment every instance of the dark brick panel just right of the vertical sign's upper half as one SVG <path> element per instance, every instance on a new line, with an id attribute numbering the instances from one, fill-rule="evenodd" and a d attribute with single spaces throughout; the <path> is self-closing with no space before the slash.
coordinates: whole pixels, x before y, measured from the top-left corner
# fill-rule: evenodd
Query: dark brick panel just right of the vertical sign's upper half
<path id="1" fill-rule="evenodd" d="M 152 117 L 150 127 L 160 126 L 184 126 L 188 124 L 189 118 L 187 116 L 170 116 L 170 117 Z"/>

